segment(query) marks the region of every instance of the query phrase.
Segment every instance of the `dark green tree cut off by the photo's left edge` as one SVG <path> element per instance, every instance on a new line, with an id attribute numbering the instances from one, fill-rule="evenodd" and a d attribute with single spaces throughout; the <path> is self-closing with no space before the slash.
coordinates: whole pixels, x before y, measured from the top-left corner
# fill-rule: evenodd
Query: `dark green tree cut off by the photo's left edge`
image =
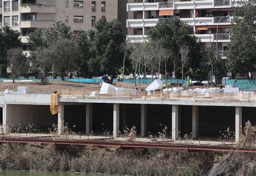
<path id="1" fill-rule="evenodd" d="M 3 32 L 2 32 L 3 31 Z M 21 39 L 19 38 L 20 33 L 15 32 L 9 26 L 3 27 L 0 30 L 0 65 L 2 66 L 3 76 L 7 76 L 7 52 L 11 48 L 21 47 Z"/>

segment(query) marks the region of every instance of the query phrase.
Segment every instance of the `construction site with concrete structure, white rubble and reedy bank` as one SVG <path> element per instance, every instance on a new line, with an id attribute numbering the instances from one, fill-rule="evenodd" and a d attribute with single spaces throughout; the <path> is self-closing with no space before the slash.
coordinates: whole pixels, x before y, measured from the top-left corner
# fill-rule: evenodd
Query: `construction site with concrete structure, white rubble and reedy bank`
<path id="1" fill-rule="evenodd" d="M 254 91 L 163 86 L 2 82 L 2 169 L 255 173 Z"/>

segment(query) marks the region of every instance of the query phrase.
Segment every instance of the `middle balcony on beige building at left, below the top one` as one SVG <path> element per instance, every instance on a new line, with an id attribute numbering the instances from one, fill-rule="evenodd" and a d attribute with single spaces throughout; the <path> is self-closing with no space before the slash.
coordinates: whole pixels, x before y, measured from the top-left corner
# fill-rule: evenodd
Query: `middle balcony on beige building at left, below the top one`
<path id="1" fill-rule="evenodd" d="M 53 20 L 22 20 L 21 28 L 46 28 L 55 23 Z"/>

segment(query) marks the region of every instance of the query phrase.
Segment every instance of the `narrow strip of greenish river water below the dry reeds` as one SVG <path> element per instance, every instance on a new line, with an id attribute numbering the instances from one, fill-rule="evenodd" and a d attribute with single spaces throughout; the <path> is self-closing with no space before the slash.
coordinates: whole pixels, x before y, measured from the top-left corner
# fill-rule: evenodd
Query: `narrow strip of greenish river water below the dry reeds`
<path id="1" fill-rule="evenodd" d="M 0 171 L 1 176 L 100 176 L 103 174 L 69 173 L 69 172 L 30 172 L 30 171 Z M 106 175 L 104 175 L 106 176 Z"/>

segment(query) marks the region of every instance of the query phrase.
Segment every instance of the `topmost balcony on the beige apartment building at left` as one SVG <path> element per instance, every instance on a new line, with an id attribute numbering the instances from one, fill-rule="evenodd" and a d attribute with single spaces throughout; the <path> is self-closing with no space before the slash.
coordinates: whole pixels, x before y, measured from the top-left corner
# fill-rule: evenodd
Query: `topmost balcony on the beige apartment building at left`
<path id="1" fill-rule="evenodd" d="M 56 13 L 54 5 L 28 5 L 21 6 L 21 13 Z"/>

